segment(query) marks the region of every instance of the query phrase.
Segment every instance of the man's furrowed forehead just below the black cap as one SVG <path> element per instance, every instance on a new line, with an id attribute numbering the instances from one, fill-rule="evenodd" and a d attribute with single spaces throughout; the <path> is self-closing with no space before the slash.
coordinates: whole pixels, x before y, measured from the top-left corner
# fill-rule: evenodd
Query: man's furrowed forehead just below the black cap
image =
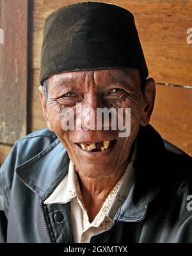
<path id="1" fill-rule="evenodd" d="M 74 71 L 54 74 L 49 78 L 49 90 L 54 93 L 67 91 L 88 92 L 90 88 L 97 91 L 120 86 L 135 92 L 140 89 L 140 73 L 136 69 L 107 69 L 100 71 Z"/>

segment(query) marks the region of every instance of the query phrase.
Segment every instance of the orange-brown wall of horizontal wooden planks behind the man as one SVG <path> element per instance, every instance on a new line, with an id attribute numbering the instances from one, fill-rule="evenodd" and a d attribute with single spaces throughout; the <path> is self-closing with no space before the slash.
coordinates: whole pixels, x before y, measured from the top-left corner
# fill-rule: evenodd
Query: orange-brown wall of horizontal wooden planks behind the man
<path id="1" fill-rule="evenodd" d="M 16 2 L 16 1 L 15 1 Z M 99 1 L 98 1 L 99 2 Z M 164 139 L 192 155 L 192 0 L 111 0 L 135 17 L 150 76 L 157 83 L 151 124 Z M 45 127 L 38 98 L 38 75 L 44 20 L 72 0 L 34 0 L 31 6 L 31 124 L 33 132 Z M 33 8 L 32 8 L 33 7 Z M 1 150 L 4 156 L 7 151 Z M 1 157 L 0 157 L 1 161 Z"/>

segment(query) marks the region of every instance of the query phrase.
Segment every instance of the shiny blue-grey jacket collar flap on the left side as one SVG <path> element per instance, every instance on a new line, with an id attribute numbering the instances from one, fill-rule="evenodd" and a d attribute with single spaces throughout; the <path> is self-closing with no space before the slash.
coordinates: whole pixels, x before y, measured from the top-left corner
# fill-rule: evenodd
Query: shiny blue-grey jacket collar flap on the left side
<path id="1" fill-rule="evenodd" d="M 59 139 L 17 167 L 20 180 L 42 198 L 47 198 L 68 172 L 69 158 Z"/>

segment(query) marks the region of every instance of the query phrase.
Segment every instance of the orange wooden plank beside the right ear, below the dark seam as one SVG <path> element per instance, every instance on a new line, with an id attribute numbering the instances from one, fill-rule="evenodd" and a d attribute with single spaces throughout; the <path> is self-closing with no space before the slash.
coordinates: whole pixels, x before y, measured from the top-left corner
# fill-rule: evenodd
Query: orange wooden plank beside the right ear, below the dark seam
<path id="1" fill-rule="evenodd" d="M 157 85 L 151 124 L 164 139 L 192 156 L 192 89 Z"/>

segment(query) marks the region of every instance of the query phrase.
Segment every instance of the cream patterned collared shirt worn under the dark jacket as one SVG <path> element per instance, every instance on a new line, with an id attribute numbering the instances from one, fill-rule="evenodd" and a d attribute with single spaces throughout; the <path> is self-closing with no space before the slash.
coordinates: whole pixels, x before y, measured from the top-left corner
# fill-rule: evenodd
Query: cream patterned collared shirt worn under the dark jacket
<path id="1" fill-rule="evenodd" d="M 68 203 L 72 218 L 74 243 L 89 243 L 93 235 L 109 230 L 115 214 L 127 198 L 134 182 L 133 174 L 129 165 L 124 175 L 116 183 L 102 205 L 95 219 L 90 223 L 87 211 L 83 204 L 79 182 L 75 166 L 70 161 L 68 174 L 63 178 L 51 196 L 44 201 L 45 204 Z"/>

